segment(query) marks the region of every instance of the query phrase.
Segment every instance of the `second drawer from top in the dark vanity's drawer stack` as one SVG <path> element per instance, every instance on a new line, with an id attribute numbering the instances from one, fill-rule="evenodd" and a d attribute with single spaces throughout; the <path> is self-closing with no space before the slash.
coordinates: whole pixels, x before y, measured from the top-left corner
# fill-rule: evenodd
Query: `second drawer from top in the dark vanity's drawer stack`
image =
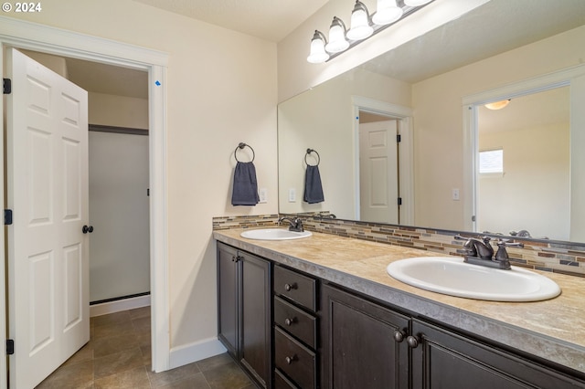
<path id="1" fill-rule="evenodd" d="M 313 315 L 275 297 L 274 324 L 281 326 L 282 329 L 316 349 L 317 320 Z"/>

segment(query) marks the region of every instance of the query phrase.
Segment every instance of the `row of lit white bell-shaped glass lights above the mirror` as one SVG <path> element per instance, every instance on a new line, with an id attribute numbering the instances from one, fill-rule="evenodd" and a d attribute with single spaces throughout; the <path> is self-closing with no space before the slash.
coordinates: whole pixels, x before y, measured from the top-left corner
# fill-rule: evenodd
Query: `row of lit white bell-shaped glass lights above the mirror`
<path id="1" fill-rule="evenodd" d="M 356 0 L 351 13 L 349 30 L 339 17 L 334 16 L 329 27 L 329 43 L 323 33 L 314 30 L 311 39 L 311 51 L 307 61 L 311 63 L 323 63 L 331 58 L 356 46 L 358 43 L 377 34 L 384 28 L 393 25 L 400 19 L 419 10 L 422 5 L 431 3 L 432 0 L 377 0 L 376 13 L 370 17 L 367 6 Z M 403 6 L 402 2 L 404 2 Z"/>

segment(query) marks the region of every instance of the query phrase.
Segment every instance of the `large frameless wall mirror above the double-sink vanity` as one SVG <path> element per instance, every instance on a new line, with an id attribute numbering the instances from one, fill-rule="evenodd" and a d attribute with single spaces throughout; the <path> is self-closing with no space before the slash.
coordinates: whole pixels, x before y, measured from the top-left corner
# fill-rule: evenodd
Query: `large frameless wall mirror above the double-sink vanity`
<path id="1" fill-rule="evenodd" d="M 585 243 L 584 21 L 581 0 L 492 0 L 282 102 L 280 212 Z"/>

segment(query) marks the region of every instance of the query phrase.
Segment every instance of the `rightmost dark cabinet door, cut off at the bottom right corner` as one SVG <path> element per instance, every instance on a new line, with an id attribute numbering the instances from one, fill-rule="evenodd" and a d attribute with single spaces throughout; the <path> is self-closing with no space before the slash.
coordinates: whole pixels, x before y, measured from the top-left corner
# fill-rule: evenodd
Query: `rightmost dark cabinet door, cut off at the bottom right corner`
<path id="1" fill-rule="evenodd" d="M 413 389 L 584 387 L 572 377 L 422 321 L 412 321 L 412 334 L 418 342 L 412 349 Z"/>

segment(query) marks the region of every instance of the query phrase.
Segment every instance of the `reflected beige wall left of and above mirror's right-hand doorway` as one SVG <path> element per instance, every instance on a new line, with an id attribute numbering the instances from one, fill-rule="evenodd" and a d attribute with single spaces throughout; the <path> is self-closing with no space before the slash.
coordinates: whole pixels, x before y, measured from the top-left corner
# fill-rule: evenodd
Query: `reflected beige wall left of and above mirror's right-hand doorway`
<path id="1" fill-rule="evenodd" d="M 415 225 L 464 226 L 463 97 L 580 65 L 583 41 L 585 26 L 413 85 Z M 462 189 L 461 201 L 452 201 L 452 188 Z"/>

